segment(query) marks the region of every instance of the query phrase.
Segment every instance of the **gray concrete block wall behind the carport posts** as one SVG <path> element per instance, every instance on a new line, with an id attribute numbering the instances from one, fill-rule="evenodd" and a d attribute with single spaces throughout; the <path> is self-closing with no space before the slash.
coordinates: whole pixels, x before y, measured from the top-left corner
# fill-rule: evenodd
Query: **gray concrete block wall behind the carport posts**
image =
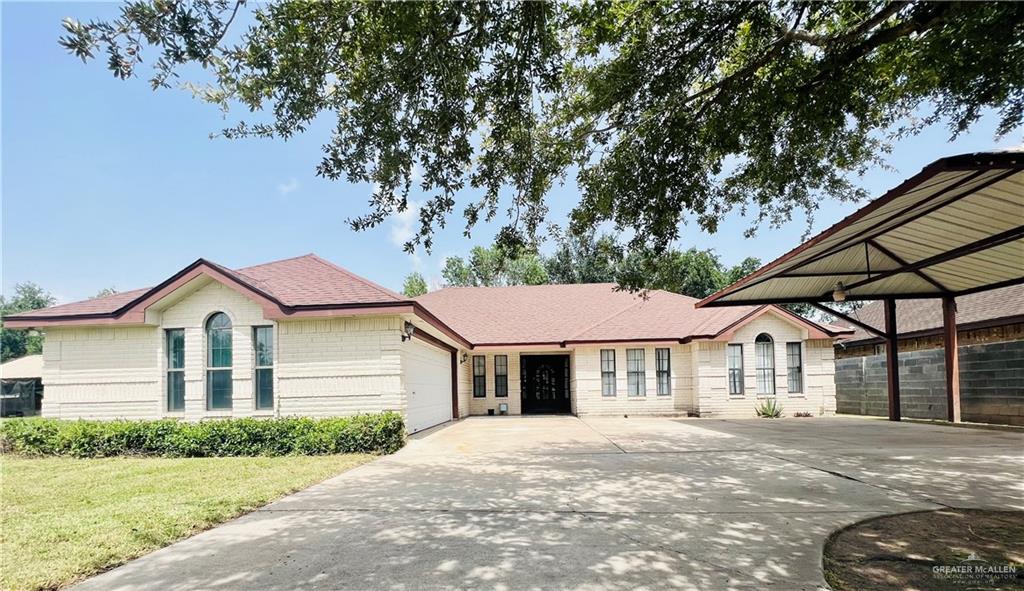
<path id="1" fill-rule="evenodd" d="M 1024 340 L 961 346 L 959 364 L 965 421 L 1024 425 Z M 901 350 L 899 376 L 903 416 L 946 418 L 941 348 Z M 889 414 L 884 354 L 837 360 L 836 384 L 840 413 Z"/>

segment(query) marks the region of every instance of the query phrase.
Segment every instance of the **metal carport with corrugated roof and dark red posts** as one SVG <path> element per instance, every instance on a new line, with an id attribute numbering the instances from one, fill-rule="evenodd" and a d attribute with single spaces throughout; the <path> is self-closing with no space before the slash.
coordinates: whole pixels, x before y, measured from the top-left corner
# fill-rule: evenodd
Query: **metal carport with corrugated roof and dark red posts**
<path id="1" fill-rule="evenodd" d="M 886 340 L 889 418 L 900 419 L 896 300 L 941 298 L 948 419 L 959 422 L 955 297 L 1024 283 L 1024 152 L 951 156 L 697 307 L 809 303 Z M 885 327 L 824 302 L 884 300 Z"/>

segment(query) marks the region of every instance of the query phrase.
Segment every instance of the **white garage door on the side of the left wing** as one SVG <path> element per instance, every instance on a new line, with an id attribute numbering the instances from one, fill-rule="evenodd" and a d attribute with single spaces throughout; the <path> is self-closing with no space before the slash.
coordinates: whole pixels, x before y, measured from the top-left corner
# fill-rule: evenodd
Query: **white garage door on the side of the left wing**
<path id="1" fill-rule="evenodd" d="M 452 353 L 411 339 L 404 370 L 409 432 L 452 420 Z"/>

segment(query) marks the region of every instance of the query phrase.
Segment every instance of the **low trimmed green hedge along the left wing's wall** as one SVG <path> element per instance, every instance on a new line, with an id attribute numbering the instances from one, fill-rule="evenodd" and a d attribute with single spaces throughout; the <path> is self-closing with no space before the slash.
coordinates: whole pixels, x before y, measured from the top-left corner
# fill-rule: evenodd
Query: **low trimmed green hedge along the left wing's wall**
<path id="1" fill-rule="evenodd" d="M 319 456 L 326 454 L 391 454 L 406 442 L 398 413 L 310 419 L 216 419 L 186 422 L 0 421 L 0 452 L 33 456 L 106 458 L 163 456 Z"/>

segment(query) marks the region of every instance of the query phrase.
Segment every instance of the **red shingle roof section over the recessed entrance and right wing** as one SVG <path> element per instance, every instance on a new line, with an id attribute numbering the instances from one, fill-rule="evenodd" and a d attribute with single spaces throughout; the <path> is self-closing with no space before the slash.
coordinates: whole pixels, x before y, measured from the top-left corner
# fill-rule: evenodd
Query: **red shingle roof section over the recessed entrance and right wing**
<path id="1" fill-rule="evenodd" d="M 478 346 L 714 338 L 765 307 L 696 309 L 688 296 L 653 290 L 642 297 L 614 284 L 445 288 L 416 301 Z M 847 330 L 775 309 L 822 336 Z"/>

